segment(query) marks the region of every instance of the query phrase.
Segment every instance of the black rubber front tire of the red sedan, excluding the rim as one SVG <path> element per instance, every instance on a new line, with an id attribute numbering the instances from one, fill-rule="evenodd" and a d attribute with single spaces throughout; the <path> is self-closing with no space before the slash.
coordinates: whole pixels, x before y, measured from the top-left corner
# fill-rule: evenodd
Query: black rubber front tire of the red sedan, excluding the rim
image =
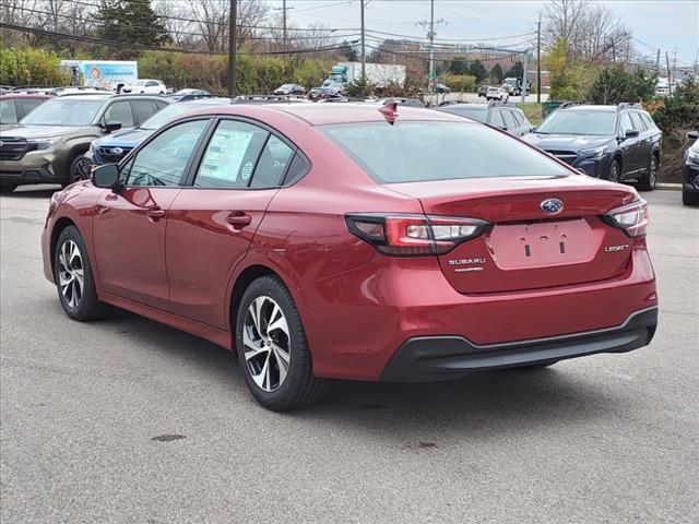
<path id="1" fill-rule="evenodd" d="M 74 263 L 72 260 L 68 261 L 68 264 L 73 271 L 78 267 L 82 269 L 83 284 L 80 294 L 75 294 L 74 297 L 79 300 L 75 303 L 71 303 L 69 298 L 62 291 L 62 276 L 66 275 L 63 271 L 64 264 L 61 261 L 61 255 L 64 254 L 63 247 L 72 242 L 79 250 L 80 264 Z M 68 246 L 70 247 L 70 245 Z M 68 248 L 67 247 L 67 248 Z M 69 226 L 63 229 L 58 237 L 56 243 L 56 253 L 54 255 L 54 278 L 56 279 L 56 289 L 58 290 L 58 298 L 63 307 L 66 313 L 73 320 L 80 322 L 86 320 L 97 320 L 107 314 L 110 307 L 97 299 L 97 290 L 95 288 L 95 281 L 93 278 L 92 266 L 90 264 L 90 258 L 87 255 L 87 248 L 80 235 L 80 231 L 74 226 Z M 73 276 L 73 279 L 75 276 Z M 70 287 L 70 285 L 69 285 Z M 74 290 L 72 291 L 74 294 Z"/>

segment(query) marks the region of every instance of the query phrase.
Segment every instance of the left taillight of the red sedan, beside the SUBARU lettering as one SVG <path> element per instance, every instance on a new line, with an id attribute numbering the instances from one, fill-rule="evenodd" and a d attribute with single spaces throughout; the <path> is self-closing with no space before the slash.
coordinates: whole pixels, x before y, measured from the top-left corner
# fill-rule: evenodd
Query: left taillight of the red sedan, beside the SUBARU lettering
<path id="1" fill-rule="evenodd" d="M 483 234 L 487 222 L 425 215 L 346 215 L 350 233 L 391 257 L 443 254 Z"/>

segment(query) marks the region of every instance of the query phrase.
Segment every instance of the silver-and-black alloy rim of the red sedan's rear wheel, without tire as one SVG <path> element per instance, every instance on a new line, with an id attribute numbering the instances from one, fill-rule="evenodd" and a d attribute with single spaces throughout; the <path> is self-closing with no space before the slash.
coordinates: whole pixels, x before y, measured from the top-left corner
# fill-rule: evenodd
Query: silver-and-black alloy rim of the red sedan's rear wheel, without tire
<path id="1" fill-rule="evenodd" d="M 271 297 L 256 298 L 242 324 L 244 356 L 250 377 L 268 393 L 279 390 L 288 374 L 292 337 L 282 308 Z"/>

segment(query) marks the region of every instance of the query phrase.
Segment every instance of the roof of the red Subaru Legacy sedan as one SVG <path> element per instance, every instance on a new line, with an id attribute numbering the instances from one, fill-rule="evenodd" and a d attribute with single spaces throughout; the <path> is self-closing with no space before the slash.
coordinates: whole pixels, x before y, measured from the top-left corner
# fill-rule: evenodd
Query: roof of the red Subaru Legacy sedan
<path id="1" fill-rule="evenodd" d="M 310 126 L 324 126 L 332 123 L 381 122 L 386 121 L 384 114 L 380 109 L 386 106 L 368 104 L 269 104 L 269 105 L 232 105 L 216 107 L 214 111 L 201 109 L 196 114 L 247 116 L 264 120 L 269 111 L 283 112 L 305 121 Z M 422 107 L 398 106 L 396 120 L 399 121 L 446 121 L 464 122 L 464 118 L 449 112 L 433 111 Z"/>

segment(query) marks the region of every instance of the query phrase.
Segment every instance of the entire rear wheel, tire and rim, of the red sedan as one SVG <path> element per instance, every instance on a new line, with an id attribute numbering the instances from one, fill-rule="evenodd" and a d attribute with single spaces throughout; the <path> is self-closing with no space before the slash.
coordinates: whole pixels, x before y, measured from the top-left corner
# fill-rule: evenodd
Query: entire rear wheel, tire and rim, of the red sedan
<path id="1" fill-rule="evenodd" d="M 236 352 L 250 393 L 268 409 L 298 409 L 320 402 L 328 391 L 328 380 L 313 376 L 294 299 L 275 276 L 262 276 L 245 291 Z"/>

